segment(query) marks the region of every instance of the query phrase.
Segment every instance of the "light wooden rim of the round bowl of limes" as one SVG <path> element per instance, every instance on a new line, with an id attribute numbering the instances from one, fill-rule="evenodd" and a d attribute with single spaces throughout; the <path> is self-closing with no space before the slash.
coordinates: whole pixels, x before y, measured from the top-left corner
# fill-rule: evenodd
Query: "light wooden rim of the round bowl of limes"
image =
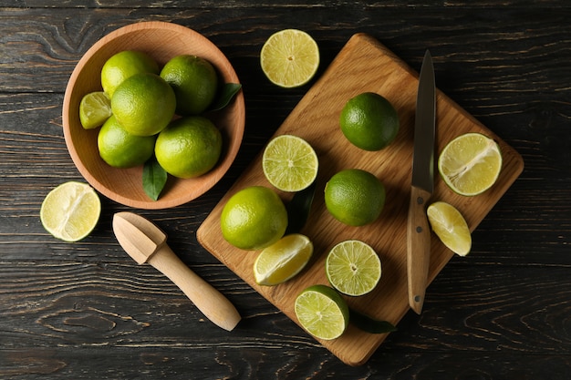
<path id="1" fill-rule="evenodd" d="M 93 46 L 89 47 L 88 51 L 81 56 L 79 59 L 76 67 L 74 67 L 71 76 L 67 81 L 66 92 L 64 95 L 63 101 L 63 111 L 62 111 L 62 123 L 64 129 L 64 138 L 66 140 L 67 151 L 71 156 L 76 168 L 79 170 L 79 173 L 84 177 L 85 180 L 95 189 L 98 190 L 102 195 L 106 196 L 110 200 L 115 200 L 120 204 L 125 206 L 139 208 L 139 209 L 147 209 L 147 210 L 161 210 L 161 209 L 168 209 L 176 206 L 180 206 L 184 203 L 187 203 L 191 200 L 194 200 L 200 197 L 203 193 L 213 188 L 213 186 L 223 178 L 224 174 L 230 169 L 232 164 L 234 163 L 234 159 L 237 156 L 238 150 L 240 149 L 242 139 L 244 138 L 244 125 L 245 125 L 245 105 L 244 105 L 244 92 L 239 91 L 235 97 L 233 102 L 236 103 L 234 112 L 237 112 L 237 118 L 235 119 L 235 124 L 233 125 L 234 133 L 233 139 L 226 142 L 226 149 L 223 152 L 223 159 L 218 162 L 216 167 L 211 170 L 209 173 L 206 173 L 204 177 L 204 185 L 200 190 L 197 191 L 190 191 L 187 196 L 182 196 L 178 198 L 171 198 L 171 199 L 161 199 L 159 200 L 134 200 L 129 197 L 123 196 L 116 191 L 109 189 L 104 183 L 98 180 L 95 176 L 93 176 L 88 168 L 83 163 L 82 159 L 80 159 L 78 151 L 72 142 L 71 137 L 71 125 L 69 122 L 70 119 L 70 103 L 71 103 L 71 94 L 73 89 L 78 81 L 78 77 L 81 74 L 82 68 L 85 66 L 86 63 L 90 59 L 93 58 L 102 46 L 105 46 L 110 41 L 119 38 L 121 36 L 131 34 L 133 32 L 137 32 L 140 30 L 149 30 L 149 29 L 167 29 L 171 30 L 175 34 L 184 34 L 186 36 L 191 36 L 194 39 L 201 40 L 201 42 L 208 46 L 209 49 L 217 55 L 220 56 L 220 59 L 224 61 L 224 68 L 226 70 L 225 75 L 229 77 L 226 80 L 231 80 L 233 83 L 240 83 L 238 76 L 235 73 L 234 67 L 229 62 L 228 58 L 223 54 L 218 46 L 215 46 L 212 41 L 210 41 L 207 37 L 202 36 L 200 33 L 196 32 L 195 30 L 181 26 L 178 24 L 173 24 L 170 22 L 164 21 L 142 21 L 134 24 L 130 24 L 127 26 L 121 26 L 119 29 L 116 29 L 110 32 L 108 35 L 101 37 Z M 189 53 L 192 54 L 192 53 Z M 120 170 L 120 169 L 119 169 Z M 129 170 L 129 169 L 125 169 Z M 182 180 L 182 179 L 175 179 L 175 180 Z M 201 180 L 201 178 L 192 179 L 192 180 Z M 141 185 L 142 186 L 142 185 Z M 191 186 L 197 186 L 196 183 L 192 183 Z"/>

